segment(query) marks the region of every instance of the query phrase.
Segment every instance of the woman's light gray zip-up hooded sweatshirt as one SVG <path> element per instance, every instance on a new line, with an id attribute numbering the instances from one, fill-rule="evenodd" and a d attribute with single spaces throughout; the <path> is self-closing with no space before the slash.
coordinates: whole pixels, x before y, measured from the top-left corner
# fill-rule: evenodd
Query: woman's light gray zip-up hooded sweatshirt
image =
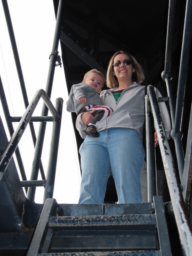
<path id="1" fill-rule="evenodd" d="M 156 96 L 162 97 L 160 92 L 156 88 L 154 89 Z M 145 86 L 133 82 L 133 85 L 122 92 L 118 101 L 116 101 L 112 93 L 115 90 L 117 89 L 105 90 L 100 94 L 102 104 L 111 107 L 114 112 L 99 124 L 97 131 L 115 127 L 131 128 L 137 130 L 142 137 L 143 123 L 145 120 Z M 158 104 L 167 138 L 170 138 L 171 123 L 166 104 L 165 102 L 159 102 Z M 85 138 L 86 134 L 83 132 L 83 128 L 86 126 L 81 120 L 81 115 L 77 117 L 76 128 L 82 138 Z"/>

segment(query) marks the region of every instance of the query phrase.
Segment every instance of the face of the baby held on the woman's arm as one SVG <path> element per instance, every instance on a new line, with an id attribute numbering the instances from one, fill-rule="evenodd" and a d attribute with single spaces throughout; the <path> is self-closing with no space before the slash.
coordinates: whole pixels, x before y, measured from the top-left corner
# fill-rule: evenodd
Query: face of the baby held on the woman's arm
<path id="1" fill-rule="evenodd" d="M 104 81 L 103 77 L 94 72 L 91 72 L 85 80 L 85 83 L 90 85 L 91 87 L 95 88 L 97 93 L 101 92 L 101 88 L 103 87 L 104 82 L 105 81 Z"/>

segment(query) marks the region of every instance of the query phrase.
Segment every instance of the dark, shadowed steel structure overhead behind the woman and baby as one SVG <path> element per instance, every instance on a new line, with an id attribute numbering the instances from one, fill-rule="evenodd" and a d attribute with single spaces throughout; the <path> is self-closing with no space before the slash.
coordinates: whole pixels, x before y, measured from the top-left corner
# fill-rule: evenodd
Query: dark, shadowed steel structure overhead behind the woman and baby
<path id="1" fill-rule="evenodd" d="M 54 1 L 56 13 L 58 4 L 59 1 Z M 172 41 L 170 75 L 176 101 L 186 1 L 172 1 L 172 4 L 175 9 L 170 13 L 173 21 L 168 39 Z M 168 10 L 168 1 L 126 1 L 121 4 L 66 1 L 60 42 L 68 92 L 91 68 L 106 74 L 113 54 L 125 50 L 141 63 L 146 74 L 145 84 L 160 88 L 166 94 L 161 73 L 165 68 Z M 78 133 L 76 136 L 78 142 Z"/>

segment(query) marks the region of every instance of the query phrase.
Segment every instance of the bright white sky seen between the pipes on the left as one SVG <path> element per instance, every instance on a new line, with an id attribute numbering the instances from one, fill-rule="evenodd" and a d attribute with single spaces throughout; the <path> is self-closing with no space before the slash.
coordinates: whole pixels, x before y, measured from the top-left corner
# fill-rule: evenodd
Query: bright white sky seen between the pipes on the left
<path id="1" fill-rule="evenodd" d="M 29 103 L 39 89 L 45 90 L 49 70 L 49 56 L 52 51 L 55 32 L 55 13 L 52 0 L 7 0 L 11 16 L 15 40 L 20 57 L 22 72 Z M 11 116 L 23 116 L 25 105 L 15 66 L 7 25 L 5 21 L 2 2 L 0 2 L 0 74 L 7 98 Z M 59 55 L 61 49 L 59 44 Z M 75 135 L 72 126 L 71 113 L 66 111 L 68 99 L 67 86 L 63 66 L 55 68 L 51 101 L 55 106 L 55 100 L 63 98 L 63 114 L 59 141 L 59 152 L 56 169 L 56 180 L 53 197 L 58 203 L 78 203 L 81 183 L 81 172 L 78 162 Z M 43 100 L 38 103 L 33 116 L 41 116 Z M 7 138 L 10 139 L 2 105 L 0 103 L 0 116 L 3 120 Z M 51 116 L 49 112 L 48 116 Z M 19 123 L 13 123 L 16 128 Z M 34 123 L 36 137 L 39 123 Z M 42 152 L 42 164 L 46 175 L 47 163 L 52 134 L 52 122 L 47 122 L 44 146 Z M 34 146 L 31 139 L 29 125 L 20 140 L 19 148 L 22 155 L 27 179 L 30 178 Z M 14 160 L 15 157 L 13 156 Z M 15 160 L 17 164 L 17 160 Z M 40 177 L 38 179 L 41 179 Z M 44 188 L 36 189 L 35 202 L 42 203 Z"/>

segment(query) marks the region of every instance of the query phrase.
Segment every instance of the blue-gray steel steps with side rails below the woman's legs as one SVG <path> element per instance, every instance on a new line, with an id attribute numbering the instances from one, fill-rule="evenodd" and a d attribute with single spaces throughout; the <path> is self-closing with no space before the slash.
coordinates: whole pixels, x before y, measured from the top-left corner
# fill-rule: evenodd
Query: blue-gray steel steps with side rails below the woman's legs
<path id="1" fill-rule="evenodd" d="M 162 198 L 121 205 L 47 199 L 27 253 L 35 255 L 170 256 Z"/>

